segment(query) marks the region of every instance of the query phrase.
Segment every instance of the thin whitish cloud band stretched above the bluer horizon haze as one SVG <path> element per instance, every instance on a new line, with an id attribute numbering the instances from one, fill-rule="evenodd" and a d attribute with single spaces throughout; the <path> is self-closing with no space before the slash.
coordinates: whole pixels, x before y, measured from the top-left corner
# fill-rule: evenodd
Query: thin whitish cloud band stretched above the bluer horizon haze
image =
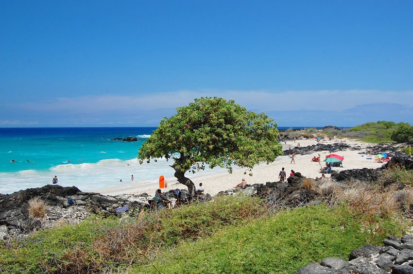
<path id="1" fill-rule="evenodd" d="M 201 96 L 218 96 L 234 99 L 236 103 L 258 111 L 272 110 L 332 110 L 343 111 L 367 103 L 398 103 L 413 106 L 413 91 L 376 90 L 317 90 L 282 91 L 266 90 L 214 90 L 160 92 L 150 95 L 60 97 L 49 102 L 18 103 L 20 109 L 42 112 L 97 113 L 107 111 L 135 112 L 156 109 L 175 109 L 193 102 Z"/>

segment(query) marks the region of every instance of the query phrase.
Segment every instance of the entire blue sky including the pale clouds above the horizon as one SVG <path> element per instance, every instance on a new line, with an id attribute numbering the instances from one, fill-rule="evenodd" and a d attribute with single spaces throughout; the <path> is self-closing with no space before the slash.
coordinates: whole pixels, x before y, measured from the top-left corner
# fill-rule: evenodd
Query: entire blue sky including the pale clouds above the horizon
<path id="1" fill-rule="evenodd" d="M 413 124 L 413 1 L 0 0 L 0 127 L 156 126 L 201 96 L 279 126 Z"/>

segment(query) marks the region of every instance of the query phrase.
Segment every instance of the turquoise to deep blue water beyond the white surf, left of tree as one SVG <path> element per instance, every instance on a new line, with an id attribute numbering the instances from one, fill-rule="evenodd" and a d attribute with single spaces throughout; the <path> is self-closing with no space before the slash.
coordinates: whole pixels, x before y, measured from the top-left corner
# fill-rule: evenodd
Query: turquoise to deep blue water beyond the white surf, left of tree
<path id="1" fill-rule="evenodd" d="M 137 157 L 142 142 L 153 130 L 154 127 L 0 128 L 0 171 L 45 171 L 68 163 L 129 160 Z M 110 140 L 128 136 L 138 137 L 138 141 Z"/>

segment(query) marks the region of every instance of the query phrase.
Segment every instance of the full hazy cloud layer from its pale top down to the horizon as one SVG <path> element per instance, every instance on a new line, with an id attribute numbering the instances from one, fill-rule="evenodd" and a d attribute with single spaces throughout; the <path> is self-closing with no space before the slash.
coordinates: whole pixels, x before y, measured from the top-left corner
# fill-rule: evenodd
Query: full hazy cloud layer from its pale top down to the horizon
<path id="1" fill-rule="evenodd" d="M 347 126 L 376 120 L 412 122 L 413 113 L 413 91 L 202 89 L 4 104 L 0 108 L 4 119 L 0 120 L 0 126 L 157 125 L 163 117 L 174 115 L 176 107 L 202 96 L 234 99 L 248 110 L 266 112 L 283 126 Z M 14 109 L 19 112 L 13 113 L 11 119 L 10 112 Z"/>

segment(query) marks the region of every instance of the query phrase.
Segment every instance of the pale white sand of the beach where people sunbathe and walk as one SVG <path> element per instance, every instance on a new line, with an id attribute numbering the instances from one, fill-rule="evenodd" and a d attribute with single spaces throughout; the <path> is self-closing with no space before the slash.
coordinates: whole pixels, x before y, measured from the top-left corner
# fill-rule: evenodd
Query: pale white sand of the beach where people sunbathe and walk
<path id="1" fill-rule="evenodd" d="M 321 143 L 324 144 L 332 144 L 336 142 L 340 142 L 341 140 L 331 140 L 331 141 L 322 141 Z M 366 146 L 371 144 L 357 142 L 354 140 L 345 140 L 347 144 L 351 147 L 356 145 L 361 147 L 361 151 L 367 151 L 364 149 Z M 312 140 L 296 140 L 295 143 L 293 141 L 288 141 L 287 144 L 282 143 L 283 149 L 286 150 L 291 145 L 292 149 L 294 146 L 300 143 L 301 147 L 309 146 L 316 144 L 317 142 Z M 333 152 L 333 154 L 338 154 L 344 156 L 343 160 L 343 168 L 334 167 L 333 170 L 335 171 L 343 171 L 343 170 L 350 170 L 350 169 L 361 169 L 361 168 L 379 168 L 382 164 L 376 163 L 374 160 L 374 155 L 372 159 L 367 159 L 370 157 L 370 154 L 358 154 L 360 151 L 338 151 Z M 248 184 L 265 184 L 266 182 L 275 182 L 278 181 L 278 173 L 281 171 L 281 168 L 285 168 L 287 172 L 287 177 L 290 174 L 290 171 L 293 169 L 295 172 L 300 172 L 303 176 L 308 178 L 315 179 L 316 177 L 321 177 L 319 173 L 320 165 L 316 162 L 311 162 L 311 158 L 313 156 L 317 156 L 317 154 L 321 154 L 321 165 L 324 167 L 325 163 L 323 160 L 326 158 L 326 155 L 329 154 L 328 151 L 320 151 L 312 154 L 307 155 L 296 155 L 295 164 L 290 164 L 290 157 L 289 156 L 279 156 L 275 159 L 275 161 L 271 164 L 266 164 L 265 162 L 260 163 L 254 167 L 252 170 L 253 176 L 249 176 L 248 172 L 244 175 L 245 169 L 236 167 L 232 174 L 229 174 L 227 171 L 218 170 L 216 173 L 212 173 L 209 175 L 203 175 L 202 172 L 197 172 L 195 174 L 186 173 L 186 176 L 192 180 L 195 186 L 198 186 L 199 183 L 202 183 L 205 186 L 205 192 L 213 195 L 216 195 L 218 192 L 231 189 L 235 185 L 241 182 L 242 178 L 245 178 Z M 172 168 L 171 168 L 172 169 Z M 208 172 L 210 173 L 210 172 Z M 326 174 L 326 177 L 329 175 Z M 177 184 L 177 181 L 170 180 L 168 182 L 168 187 L 163 188 L 162 192 L 169 191 L 170 189 L 175 188 L 186 188 L 184 185 Z M 155 190 L 158 189 L 158 183 L 150 183 L 150 184 L 130 184 L 126 186 L 121 186 L 119 188 L 109 188 L 109 189 L 101 189 L 97 190 L 103 195 L 119 195 L 119 194 L 140 194 L 143 192 L 148 193 L 150 196 L 155 194 Z"/>

